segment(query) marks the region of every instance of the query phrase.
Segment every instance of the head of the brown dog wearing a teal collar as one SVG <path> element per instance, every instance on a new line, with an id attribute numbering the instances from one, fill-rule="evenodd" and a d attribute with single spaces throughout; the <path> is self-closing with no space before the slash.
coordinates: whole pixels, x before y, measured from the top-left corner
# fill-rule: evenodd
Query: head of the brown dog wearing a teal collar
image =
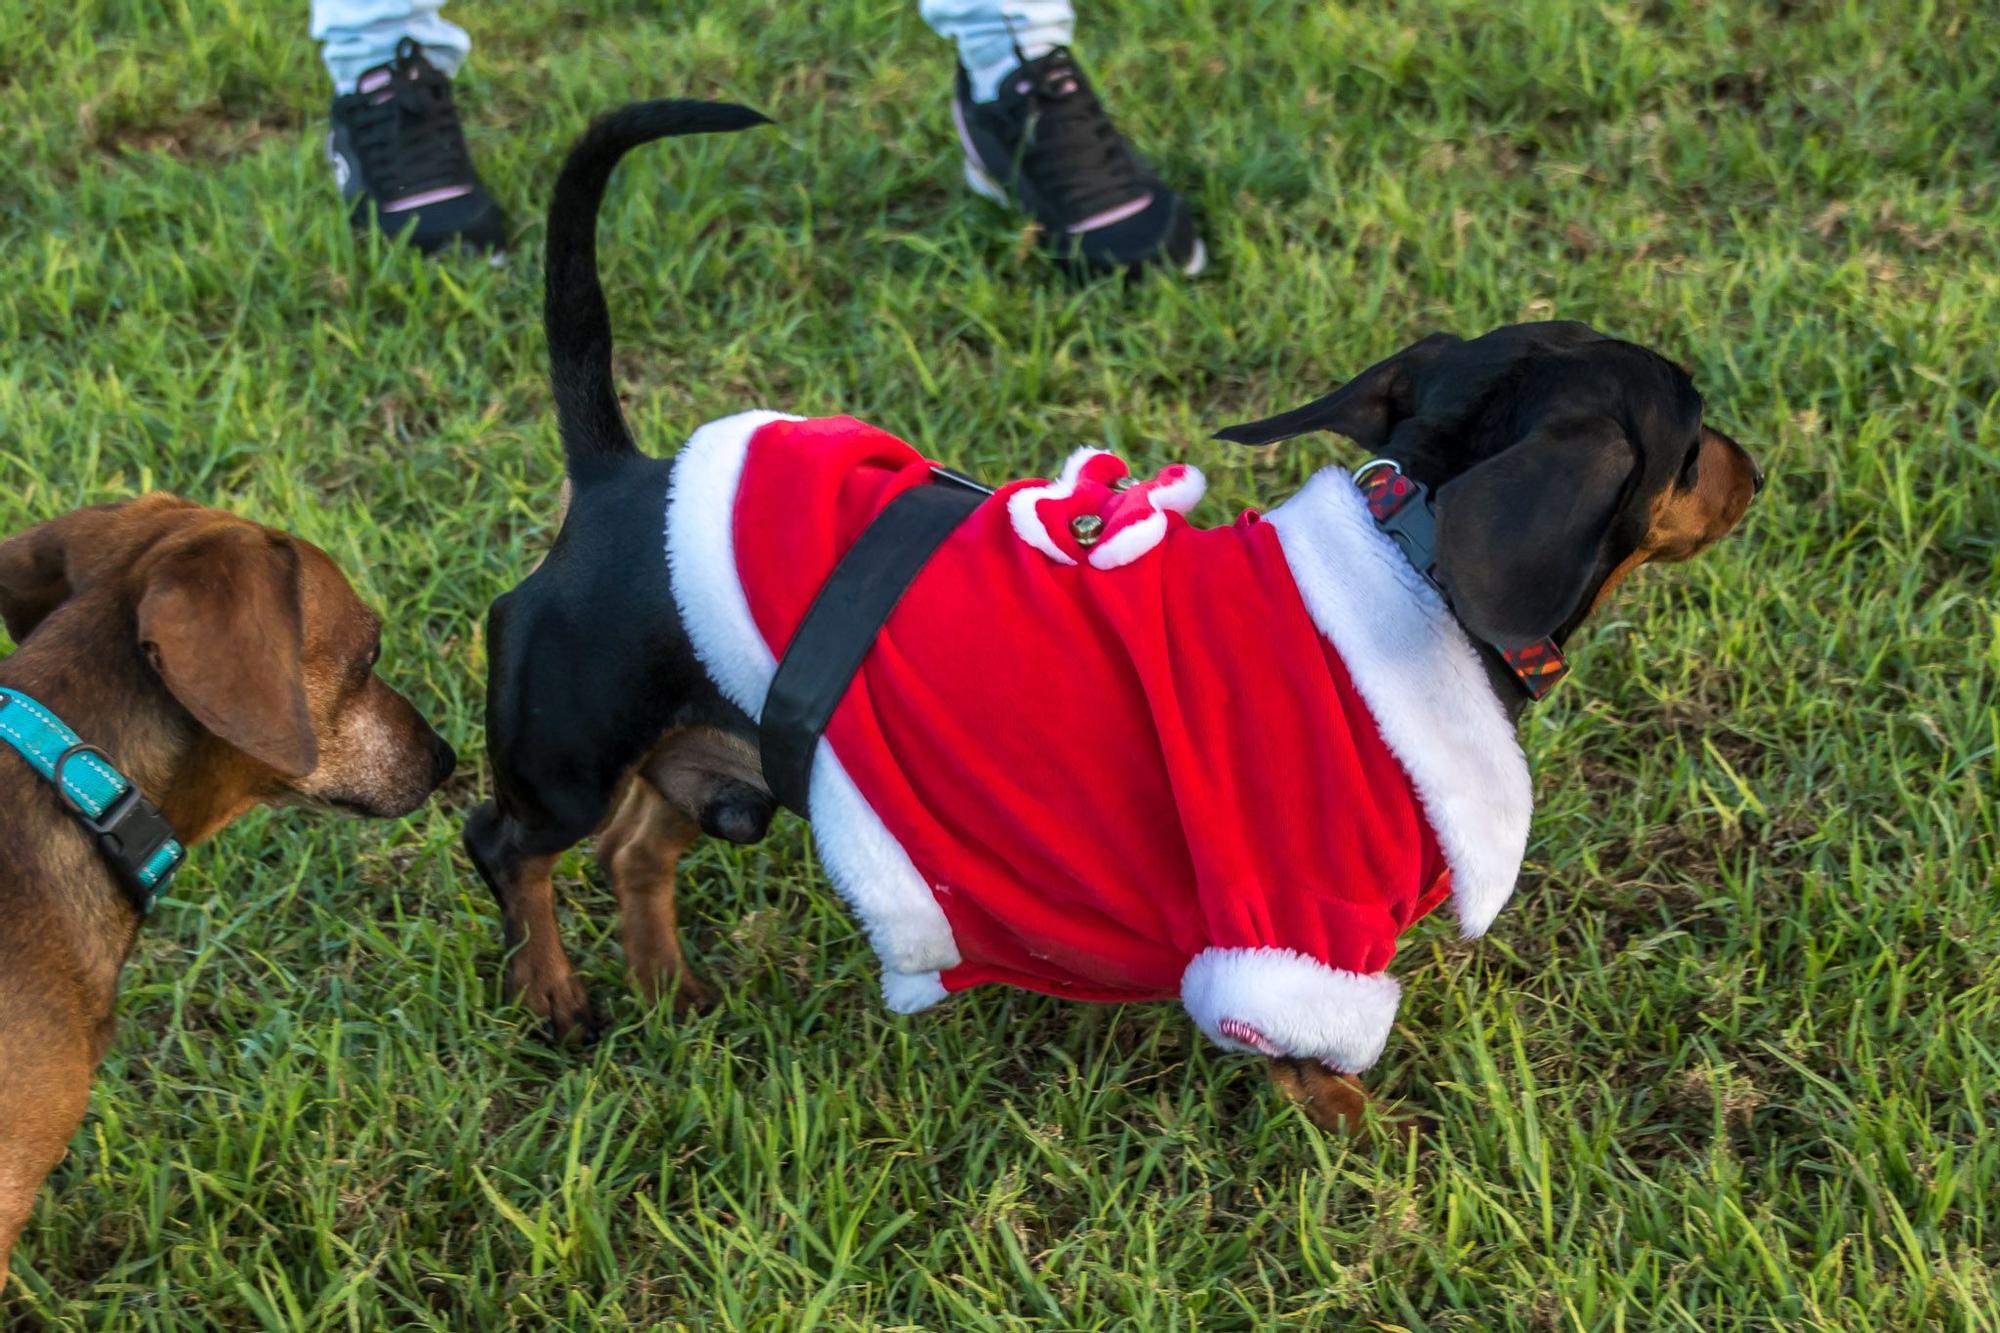
<path id="1" fill-rule="evenodd" d="M 0 618 L 16 642 L 134 652 L 220 743 L 238 809 L 304 797 L 408 815 L 456 763 L 374 673 L 380 620 L 326 552 L 222 510 L 148 494 L 0 542 Z"/>

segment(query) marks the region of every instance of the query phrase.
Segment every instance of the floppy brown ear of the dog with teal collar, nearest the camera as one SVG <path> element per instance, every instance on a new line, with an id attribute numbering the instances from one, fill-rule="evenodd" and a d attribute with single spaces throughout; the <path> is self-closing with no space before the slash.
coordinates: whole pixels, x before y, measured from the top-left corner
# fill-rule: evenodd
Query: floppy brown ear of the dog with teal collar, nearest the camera
<path id="1" fill-rule="evenodd" d="M 284 777 L 320 763 L 306 711 L 298 550 L 252 526 L 194 534 L 148 570 L 138 640 L 212 735 Z"/>

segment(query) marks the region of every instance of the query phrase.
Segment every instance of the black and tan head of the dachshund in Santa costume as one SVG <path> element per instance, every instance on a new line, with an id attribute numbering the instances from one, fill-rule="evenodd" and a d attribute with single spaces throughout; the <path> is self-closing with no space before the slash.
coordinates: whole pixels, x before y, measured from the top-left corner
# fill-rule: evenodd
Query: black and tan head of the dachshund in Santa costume
<path id="1" fill-rule="evenodd" d="M 1574 322 L 1432 334 L 1224 440 L 1336 430 L 1436 494 L 1436 574 L 1476 636 L 1568 634 L 1636 566 L 1686 560 L 1764 474 L 1664 356 Z"/>

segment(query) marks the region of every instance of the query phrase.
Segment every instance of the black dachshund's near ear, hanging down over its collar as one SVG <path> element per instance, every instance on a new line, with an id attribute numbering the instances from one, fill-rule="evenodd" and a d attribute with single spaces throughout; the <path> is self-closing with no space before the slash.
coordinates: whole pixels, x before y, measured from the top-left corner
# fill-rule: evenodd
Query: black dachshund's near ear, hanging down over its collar
<path id="1" fill-rule="evenodd" d="M 1604 416 L 1544 422 L 1438 490 L 1438 580 L 1478 638 L 1520 648 L 1590 592 L 1636 450 Z"/>

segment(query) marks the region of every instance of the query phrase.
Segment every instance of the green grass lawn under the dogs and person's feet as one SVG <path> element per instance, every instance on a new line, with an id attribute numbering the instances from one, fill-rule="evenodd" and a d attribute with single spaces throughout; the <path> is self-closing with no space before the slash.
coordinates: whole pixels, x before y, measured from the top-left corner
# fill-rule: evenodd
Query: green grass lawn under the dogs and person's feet
<path id="1" fill-rule="evenodd" d="M 24 1327 L 2000 1327 L 2000 24 L 1974 0 L 1090 0 L 1196 284 L 1070 286 L 968 198 L 908 0 L 462 4 L 500 270 L 360 248 L 302 0 L 0 4 L 0 530 L 166 486 L 302 532 L 470 769 L 256 815 L 146 929 L 14 1255 Z M 634 96 L 782 128 L 636 156 L 606 284 L 642 442 L 852 410 L 990 476 L 1230 454 L 1414 334 L 1562 314 L 1686 360 L 1772 486 L 1648 572 L 1524 737 L 1492 937 L 1414 933 L 1334 1141 L 1172 1007 L 894 1019 L 796 823 L 704 847 L 724 1007 L 500 1003 L 456 853 L 480 614 L 558 482 L 538 212 Z M 638 572 L 638 576 L 644 576 Z"/>

